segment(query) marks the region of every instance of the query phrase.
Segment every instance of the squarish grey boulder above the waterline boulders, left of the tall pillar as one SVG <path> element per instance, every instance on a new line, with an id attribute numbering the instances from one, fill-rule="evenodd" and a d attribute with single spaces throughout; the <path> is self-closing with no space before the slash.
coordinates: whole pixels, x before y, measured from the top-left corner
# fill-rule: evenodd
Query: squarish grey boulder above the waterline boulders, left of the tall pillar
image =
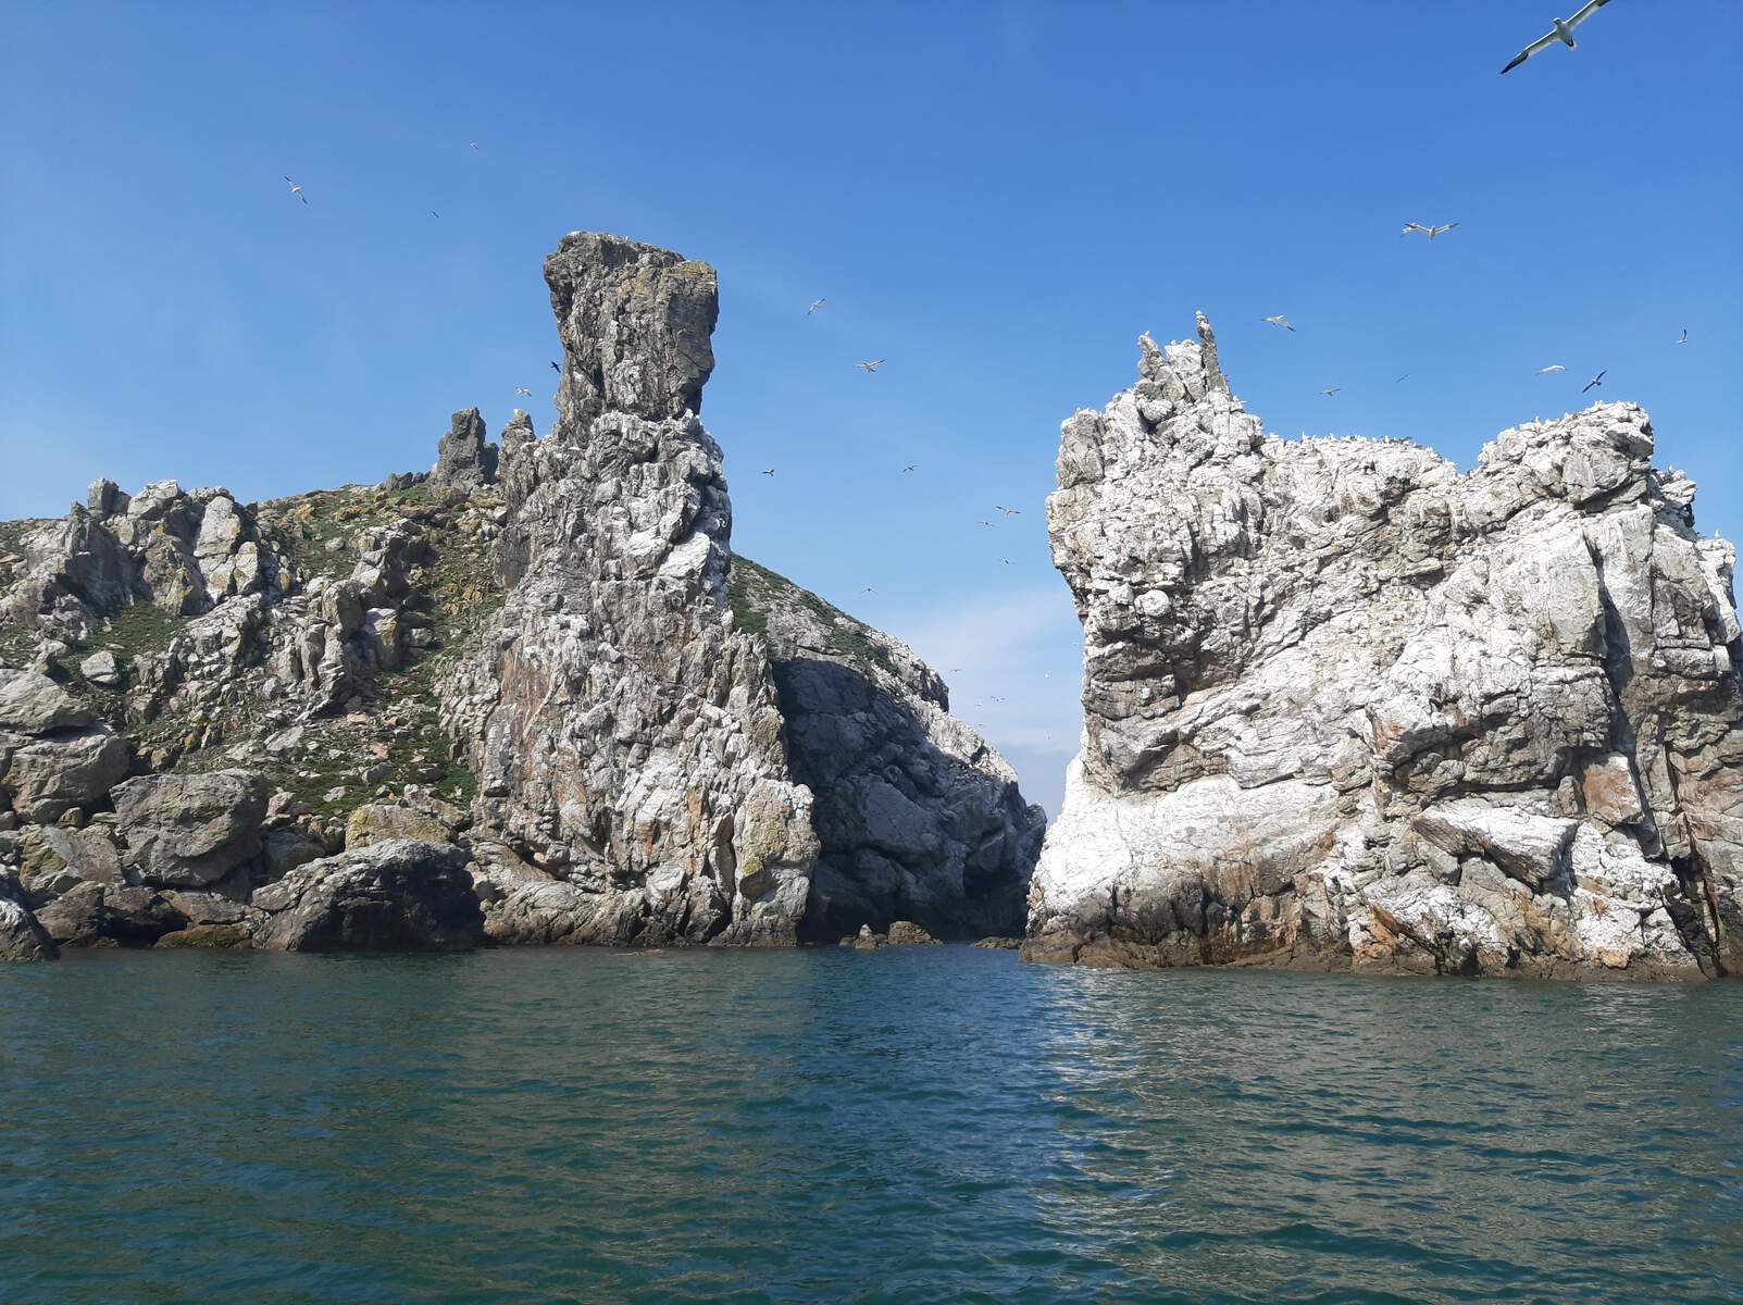
<path id="1" fill-rule="evenodd" d="M 139 775 L 112 796 L 124 859 L 145 883 L 216 883 L 260 854 L 267 782 L 251 770 Z"/>

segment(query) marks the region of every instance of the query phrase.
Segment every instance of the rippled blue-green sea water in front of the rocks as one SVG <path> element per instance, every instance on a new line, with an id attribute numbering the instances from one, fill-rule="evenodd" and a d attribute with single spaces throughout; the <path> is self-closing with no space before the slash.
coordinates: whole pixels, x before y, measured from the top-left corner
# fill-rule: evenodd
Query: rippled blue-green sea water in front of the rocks
<path id="1" fill-rule="evenodd" d="M 1738 1302 L 1743 984 L 0 969 L 5 1302 Z"/>

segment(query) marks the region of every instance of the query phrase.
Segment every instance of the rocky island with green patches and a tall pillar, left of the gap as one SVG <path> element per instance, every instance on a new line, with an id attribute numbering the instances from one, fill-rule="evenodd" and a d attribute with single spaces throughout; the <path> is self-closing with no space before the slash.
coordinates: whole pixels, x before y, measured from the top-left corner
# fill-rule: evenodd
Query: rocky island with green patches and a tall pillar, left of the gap
<path id="1" fill-rule="evenodd" d="M 715 272 L 546 260 L 554 430 L 0 523 L 0 957 L 1021 929 L 1044 819 L 908 648 L 732 556 Z"/>

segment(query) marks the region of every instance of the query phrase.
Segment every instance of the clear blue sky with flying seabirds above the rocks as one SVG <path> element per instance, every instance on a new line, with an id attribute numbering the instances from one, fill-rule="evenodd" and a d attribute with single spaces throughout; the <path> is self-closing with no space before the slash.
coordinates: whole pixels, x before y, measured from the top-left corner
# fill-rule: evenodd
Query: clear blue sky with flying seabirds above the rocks
<path id="1" fill-rule="evenodd" d="M 1499 75 L 1574 7 L 9 0 L 0 517 L 375 481 L 516 385 L 544 429 L 540 260 L 621 232 L 720 268 L 737 549 L 910 639 L 1053 808 L 1058 423 L 1194 308 L 1267 429 L 1462 465 L 1607 368 L 1743 531 L 1743 3 L 1614 0 Z"/>

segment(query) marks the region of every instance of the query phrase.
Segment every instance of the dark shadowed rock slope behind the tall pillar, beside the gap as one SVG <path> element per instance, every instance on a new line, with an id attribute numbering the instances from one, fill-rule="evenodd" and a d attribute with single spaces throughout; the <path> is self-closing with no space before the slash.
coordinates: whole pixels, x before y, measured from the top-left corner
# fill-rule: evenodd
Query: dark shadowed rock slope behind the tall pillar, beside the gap
<path id="1" fill-rule="evenodd" d="M 950 714 L 905 645 L 744 558 L 732 603 L 770 655 L 795 779 L 821 842 L 802 934 L 913 920 L 945 937 L 1014 934 L 1046 815 Z"/>

